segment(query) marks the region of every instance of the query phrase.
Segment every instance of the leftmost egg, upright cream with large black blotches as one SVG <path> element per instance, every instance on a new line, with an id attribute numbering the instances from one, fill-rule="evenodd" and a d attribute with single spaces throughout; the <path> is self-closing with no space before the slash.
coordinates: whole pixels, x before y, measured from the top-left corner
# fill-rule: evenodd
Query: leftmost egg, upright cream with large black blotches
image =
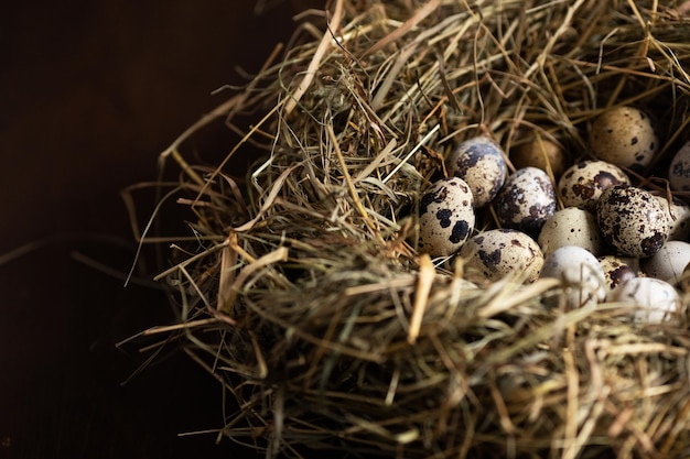
<path id="1" fill-rule="evenodd" d="M 419 250 L 432 256 L 456 252 L 474 221 L 470 186 L 457 177 L 434 182 L 419 203 Z"/>

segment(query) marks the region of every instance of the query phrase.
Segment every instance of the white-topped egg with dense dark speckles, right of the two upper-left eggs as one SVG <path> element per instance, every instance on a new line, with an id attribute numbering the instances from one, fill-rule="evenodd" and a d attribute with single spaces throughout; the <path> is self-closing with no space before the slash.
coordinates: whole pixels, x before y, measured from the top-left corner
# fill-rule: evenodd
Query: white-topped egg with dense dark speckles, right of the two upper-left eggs
<path id="1" fill-rule="evenodd" d="M 508 176 L 494 203 L 500 225 L 537 237 L 556 212 L 556 192 L 546 172 L 522 167 Z"/>

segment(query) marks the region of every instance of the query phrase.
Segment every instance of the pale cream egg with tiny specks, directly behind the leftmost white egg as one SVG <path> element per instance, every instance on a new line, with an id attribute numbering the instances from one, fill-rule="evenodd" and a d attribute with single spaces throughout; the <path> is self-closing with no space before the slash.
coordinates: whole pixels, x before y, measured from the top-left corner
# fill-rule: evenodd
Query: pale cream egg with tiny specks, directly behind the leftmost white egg
<path id="1" fill-rule="evenodd" d="M 604 249 L 596 216 L 576 207 L 557 210 L 541 227 L 537 242 L 545 256 L 565 245 L 581 247 L 595 256 Z"/>

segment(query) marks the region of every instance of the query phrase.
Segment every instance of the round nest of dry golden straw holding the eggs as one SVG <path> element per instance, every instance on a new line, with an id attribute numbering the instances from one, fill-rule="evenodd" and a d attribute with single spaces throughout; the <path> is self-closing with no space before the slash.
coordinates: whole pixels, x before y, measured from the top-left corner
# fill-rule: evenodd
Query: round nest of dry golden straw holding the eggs
<path id="1" fill-rule="evenodd" d="M 509 167 L 530 135 L 575 161 L 603 109 L 644 107 L 664 146 L 636 181 L 666 189 L 657 166 L 690 132 L 688 4 L 667 3 L 337 0 L 183 133 L 161 203 L 188 233 L 158 277 L 181 320 L 147 335 L 180 337 L 237 401 L 218 438 L 267 457 L 690 456 L 684 317 L 549 308 L 559 281 L 471 284 L 417 250 L 421 194 L 479 133 Z M 238 140 L 193 162 L 218 119 Z"/>

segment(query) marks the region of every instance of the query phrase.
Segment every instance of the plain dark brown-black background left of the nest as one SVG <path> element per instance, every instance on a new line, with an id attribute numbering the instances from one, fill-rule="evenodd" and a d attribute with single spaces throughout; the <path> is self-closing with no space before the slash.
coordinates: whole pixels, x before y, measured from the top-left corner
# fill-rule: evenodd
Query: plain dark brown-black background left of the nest
<path id="1" fill-rule="evenodd" d="M 0 8 L 0 458 L 259 457 L 177 437 L 222 425 L 222 391 L 174 346 L 121 384 L 147 356 L 115 343 L 171 306 L 73 254 L 130 267 L 120 190 L 155 177 L 159 152 L 225 100 L 211 92 L 242 81 L 236 66 L 256 72 L 289 39 L 304 4 L 272 3 Z"/>

